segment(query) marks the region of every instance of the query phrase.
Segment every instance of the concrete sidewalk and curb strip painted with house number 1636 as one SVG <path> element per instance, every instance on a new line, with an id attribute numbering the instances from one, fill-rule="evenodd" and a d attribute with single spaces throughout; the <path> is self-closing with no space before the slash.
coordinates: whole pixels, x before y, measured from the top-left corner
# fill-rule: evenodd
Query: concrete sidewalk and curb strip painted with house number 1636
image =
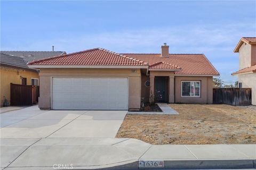
<path id="1" fill-rule="evenodd" d="M 163 161 L 163 167 L 153 169 L 255 168 L 256 145 L 150 145 L 117 138 L 1 139 L 1 169 L 54 169 L 57 165 L 152 169 L 142 166 L 148 161 Z"/>

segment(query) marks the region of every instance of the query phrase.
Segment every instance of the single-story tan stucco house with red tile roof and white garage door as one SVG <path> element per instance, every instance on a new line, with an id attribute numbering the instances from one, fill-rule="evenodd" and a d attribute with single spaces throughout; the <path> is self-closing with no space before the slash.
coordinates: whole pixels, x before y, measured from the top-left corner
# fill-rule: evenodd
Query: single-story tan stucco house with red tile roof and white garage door
<path id="1" fill-rule="evenodd" d="M 212 103 L 218 71 L 203 54 L 118 54 L 102 48 L 29 63 L 40 69 L 41 109 L 138 110 L 141 98 Z"/>

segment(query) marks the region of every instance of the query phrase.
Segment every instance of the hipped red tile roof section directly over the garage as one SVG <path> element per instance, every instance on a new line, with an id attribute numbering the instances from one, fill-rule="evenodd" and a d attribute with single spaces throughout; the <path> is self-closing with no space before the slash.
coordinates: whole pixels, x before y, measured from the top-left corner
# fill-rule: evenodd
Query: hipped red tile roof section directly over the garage
<path id="1" fill-rule="evenodd" d="M 93 48 L 82 52 L 45 58 L 28 63 L 29 65 L 148 65 L 146 62 L 111 52 L 103 48 Z"/>

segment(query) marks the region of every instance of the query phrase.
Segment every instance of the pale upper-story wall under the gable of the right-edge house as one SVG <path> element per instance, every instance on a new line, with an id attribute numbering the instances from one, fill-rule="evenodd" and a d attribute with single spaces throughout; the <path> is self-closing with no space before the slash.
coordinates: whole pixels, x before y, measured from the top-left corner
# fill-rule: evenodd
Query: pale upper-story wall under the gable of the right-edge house
<path id="1" fill-rule="evenodd" d="M 251 66 L 251 45 L 243 43 L 239 48 L 239 70 Z"/>

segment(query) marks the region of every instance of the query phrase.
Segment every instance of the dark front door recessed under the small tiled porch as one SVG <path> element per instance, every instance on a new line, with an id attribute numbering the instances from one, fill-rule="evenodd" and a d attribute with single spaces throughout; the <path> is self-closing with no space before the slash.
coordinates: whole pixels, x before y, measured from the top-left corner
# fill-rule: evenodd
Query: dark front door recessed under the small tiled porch
<path id="1" fill-rule="evenodd" d="M 155 78 L 155 97 L 156 101 L 167 102 L 167 78 L 166 77 L 156 77 Z"/>

